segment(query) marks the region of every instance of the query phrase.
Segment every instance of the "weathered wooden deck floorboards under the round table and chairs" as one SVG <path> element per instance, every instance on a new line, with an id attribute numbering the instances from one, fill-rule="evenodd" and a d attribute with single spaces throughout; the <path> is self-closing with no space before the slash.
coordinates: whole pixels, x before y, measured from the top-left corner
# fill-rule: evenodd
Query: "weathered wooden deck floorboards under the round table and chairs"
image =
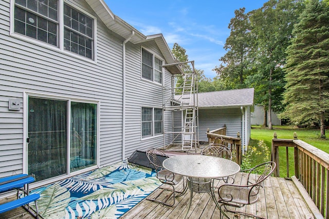
<path id="1" fill-rule="evenodd" d="M 241 183 L 243 179 L 244 175 L 239 173 L 235 176 L 235 183 Z M 220 184 L 221 182 L 218 185 Z M 150 197 L 166 197 L 168 193 L 169 191 L 158 188 L 150 194 Z M 120 218 L 183 218 L 187 211 L 189 197 L 190 192 L 188 190 L 185 195 L 175 198 L 176 201 L 173 207 L 144 199 Z M 267 178 L 264 182 L 264 188 L 261 189 L 259 202 L 239 210 L 264 218 L 313 218 L 295 184 L 290 180 L 279 177 Z M 234 218 L 233 213 L 228 212 L 228 215 L 230 218 Z M 210 194 L 193 193 L 193 201 L 188 218 L 217 219 L 219 217 L 220 211 Z M 240 214 L 235 215 L 235 218 L 253 217 Z"/>

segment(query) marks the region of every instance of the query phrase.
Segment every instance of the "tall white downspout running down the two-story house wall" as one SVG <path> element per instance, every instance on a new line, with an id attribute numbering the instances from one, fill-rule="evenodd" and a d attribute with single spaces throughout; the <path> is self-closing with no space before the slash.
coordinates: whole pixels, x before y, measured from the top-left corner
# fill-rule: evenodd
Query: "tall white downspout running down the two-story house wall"
<path id="1" fill-rule="evenodd" d="M 135 35 L 132 31 L 131 35 L 122 43 L 122 161 L 125 160 L 125 44 Z"/>

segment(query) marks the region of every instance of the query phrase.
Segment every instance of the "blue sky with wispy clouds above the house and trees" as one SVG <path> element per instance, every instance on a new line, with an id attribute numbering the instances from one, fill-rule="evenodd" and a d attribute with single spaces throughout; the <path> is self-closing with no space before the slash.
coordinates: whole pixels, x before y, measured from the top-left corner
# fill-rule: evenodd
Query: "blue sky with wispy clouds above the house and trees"
<path id="1" fill-rule="evenodd" d="M 104 0 L 111 11 L 144 35 L 162 33 L 169 48 L 174 43 L 186 49 L 189 61 L 195 68 L 204 70 L 213 78 L 212 71 L 220 65 L 226 38 L 230 35 L 228 24 L 234 10 L 246 12 L 258 9 L 265 0 Z"/>

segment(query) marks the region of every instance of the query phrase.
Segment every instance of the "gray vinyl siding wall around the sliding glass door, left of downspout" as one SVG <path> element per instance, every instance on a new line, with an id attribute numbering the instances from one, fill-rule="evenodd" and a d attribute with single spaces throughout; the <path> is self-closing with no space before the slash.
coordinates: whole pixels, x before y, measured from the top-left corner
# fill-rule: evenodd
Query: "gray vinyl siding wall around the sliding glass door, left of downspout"
<path id="1" fill-rule="evenodd" d="M 90 14 L 84 1 L 79 7 Z M 0 1 L 0 177 L 22 173 L 23 93 L 100 101 L 100 166 L 122 157 L 122 41 L 97 19 L 97 63 L 9 35 L 9 0 Z M 8 110 L 10 98 L 20 111 Z"/>

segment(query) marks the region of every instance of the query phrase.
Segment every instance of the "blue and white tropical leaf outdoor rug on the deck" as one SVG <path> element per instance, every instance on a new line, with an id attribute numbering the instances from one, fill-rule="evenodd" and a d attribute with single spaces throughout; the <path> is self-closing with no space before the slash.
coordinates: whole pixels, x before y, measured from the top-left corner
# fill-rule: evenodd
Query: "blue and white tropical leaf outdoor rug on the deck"
<path id="1" fill-rule="evenodd" d="M 46 187 L 38 208 L 44 218 L 118 218 L 161 183 L 152 169 L 119 162 Z M 33 206 L 31 206 L 33 208 Z"/>

